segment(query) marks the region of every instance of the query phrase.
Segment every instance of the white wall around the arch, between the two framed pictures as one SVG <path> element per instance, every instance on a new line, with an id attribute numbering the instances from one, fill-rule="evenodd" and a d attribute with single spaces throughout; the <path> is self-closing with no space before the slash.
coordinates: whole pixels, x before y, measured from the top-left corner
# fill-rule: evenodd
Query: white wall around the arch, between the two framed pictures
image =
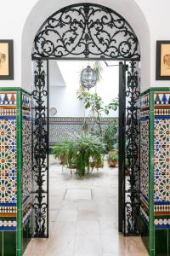
<path id="1" fill-rule="evenodd" d="M 94 0 L 82 2 L 96 3 Z M 72 3 L 80 0 L 1 1 L 0 37 L 14 39 L 14 81 L 0 81 L 0 86 L 22 86 L 31 90 L 31 48 L 35 34 L 49 15 Z M 169 81 L 156 81 L 155 67 L 156 40 L 170 38 L 170 1 L 99 0 L 98 3 L 115 9 L 133 26 L 142 54 L 142 90 L 169 86 Z"/>

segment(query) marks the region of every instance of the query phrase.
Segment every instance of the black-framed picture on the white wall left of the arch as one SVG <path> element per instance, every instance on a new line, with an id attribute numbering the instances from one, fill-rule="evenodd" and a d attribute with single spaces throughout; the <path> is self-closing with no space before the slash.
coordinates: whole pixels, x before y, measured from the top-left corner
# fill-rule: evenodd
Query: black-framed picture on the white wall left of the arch
<path id="1" fill-rule="evenodd" d="M 0 80 L 14 79 L 13 40 L 0 40 Z"/>

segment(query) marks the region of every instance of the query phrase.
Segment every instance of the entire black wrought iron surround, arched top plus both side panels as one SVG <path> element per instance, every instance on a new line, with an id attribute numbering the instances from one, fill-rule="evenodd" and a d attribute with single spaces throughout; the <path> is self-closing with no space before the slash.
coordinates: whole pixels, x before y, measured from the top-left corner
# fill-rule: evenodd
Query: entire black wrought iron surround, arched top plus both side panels
<path id="1" fill-rule="evenodd" d="M 60 9 L 42 24 L 34 40 L 32 50 L 34 234 L 37 237 L 48 237 L 48 61 L 61 59 L 124 61 L 122 84 L 124 86 L 126 84 L 127 88 L 122 87 L 120 109 L 124 111 L 121 119 L 126 125 L 120 122 L 119 128 L 120 137 L 122 134 L 126 140 L 120 143 L 122 147 L 120 163 L 123 163 L 120 167 L 120 178 L 123 183 L 119 190 L 119 204 L 122 209 L 120 223 L 123 224 L 125 235 L 138 235 L 139 42 L 133 29 L 121 15 L 104 6 L 91 3 L 80 3 Z M 128 69 L 125 72 L 127 64 Z M 126 157 L 128 178 L 125 175 Z"/>

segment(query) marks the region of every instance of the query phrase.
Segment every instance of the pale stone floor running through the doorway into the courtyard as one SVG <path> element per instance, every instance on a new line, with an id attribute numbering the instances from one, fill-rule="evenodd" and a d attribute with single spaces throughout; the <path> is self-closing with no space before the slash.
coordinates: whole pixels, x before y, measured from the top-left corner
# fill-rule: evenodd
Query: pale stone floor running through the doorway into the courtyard
<path id="1" fill-rule="evenodd" d="M 32 239 L 24 256 L 147 256 L 139 237 L 117 231 L 117 181 L 117 168 L 81 179 L 50 156 L 50 235 Z"/>

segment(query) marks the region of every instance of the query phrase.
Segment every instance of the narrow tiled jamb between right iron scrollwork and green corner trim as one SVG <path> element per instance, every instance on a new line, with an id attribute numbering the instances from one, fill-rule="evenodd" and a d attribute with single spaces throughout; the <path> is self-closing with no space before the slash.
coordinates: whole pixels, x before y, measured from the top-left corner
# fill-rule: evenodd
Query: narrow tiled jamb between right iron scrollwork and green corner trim
<path id="1" fill-rule="evenodd" d="M 140 111 L 140 213 L 149 223 L 149 94 L 141 97 Z"/>

